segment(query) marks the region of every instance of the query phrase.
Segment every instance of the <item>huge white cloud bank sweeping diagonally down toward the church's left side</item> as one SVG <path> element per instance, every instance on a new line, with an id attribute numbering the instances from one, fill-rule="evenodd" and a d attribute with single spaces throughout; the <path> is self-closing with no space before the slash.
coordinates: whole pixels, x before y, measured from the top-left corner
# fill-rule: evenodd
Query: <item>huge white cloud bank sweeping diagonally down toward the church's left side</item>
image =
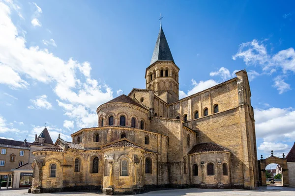
<path id="1" fill-rule="evenodd" d="M 41 13 L 38 7 L 36 9 Z M 113 98 L 112 89 L 91 78 L 89 62 L 80 63 L 73 58 L 64 61 L 47 49 L 27 48 L 26 39 L 18 34 L 10 14 L 9 7 L 0 2 L 0 67 L 9 69 L 6 73 L 14 74 L 8 80 L 3 79 L 0 72 L 0 83 L 15 89 L 28 88 L 30 80 L 50 84 L 58 96 L 59 106 L 78 127 L 96 126 L 95 110 Z M 29 107 L 35 108 L 35 105 Z M 44 107 L 51 108 L 49 104 Z"/>

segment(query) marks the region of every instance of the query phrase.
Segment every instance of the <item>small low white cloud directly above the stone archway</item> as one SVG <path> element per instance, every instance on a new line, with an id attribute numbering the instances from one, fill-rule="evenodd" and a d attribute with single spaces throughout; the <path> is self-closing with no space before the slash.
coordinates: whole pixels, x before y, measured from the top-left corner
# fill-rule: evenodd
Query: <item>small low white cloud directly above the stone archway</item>
<path id="1" fill-rule="evenodd" d="M 258 149 L 269 155 L 271 153 L 271 150 L 273 150 L 274 156 L 282 157 L 282 153 L 285 153 L 286 155 L 286 152 L 289 152 L 290 147 L 287 144 L 283 143 L 263 142 L 260 144 Z"/>

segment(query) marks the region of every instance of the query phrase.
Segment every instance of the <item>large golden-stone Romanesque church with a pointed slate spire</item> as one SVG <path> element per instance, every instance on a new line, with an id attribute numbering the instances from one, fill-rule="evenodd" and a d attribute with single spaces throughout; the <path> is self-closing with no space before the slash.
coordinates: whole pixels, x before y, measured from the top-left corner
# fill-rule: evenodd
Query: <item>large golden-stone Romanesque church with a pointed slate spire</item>
<path id="1" fill-rule="evenodd" d="M 34 153 L 32 193 L 64 180 L 101 181 L 107 195 L 157 187 L 255 189 L 255 120 L 247 73 L 179 99 L 179 68 L 162 26 L 146 89 L 97 108 L 98 126 Z"/>

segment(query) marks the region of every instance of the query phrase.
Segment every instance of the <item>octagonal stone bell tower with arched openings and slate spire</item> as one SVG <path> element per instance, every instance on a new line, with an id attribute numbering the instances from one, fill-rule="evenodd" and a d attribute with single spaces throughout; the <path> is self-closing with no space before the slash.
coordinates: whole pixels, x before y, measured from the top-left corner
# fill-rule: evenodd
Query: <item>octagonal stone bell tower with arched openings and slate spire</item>
<path id="1" fill-rule="evenodd" d="M 146 70 L 146 89 L 153 90 L 156 96 L 167 103 L 177 101 L 178 73 L 179 68 L 174 62 L 161 24 L 150 65 Z"/>

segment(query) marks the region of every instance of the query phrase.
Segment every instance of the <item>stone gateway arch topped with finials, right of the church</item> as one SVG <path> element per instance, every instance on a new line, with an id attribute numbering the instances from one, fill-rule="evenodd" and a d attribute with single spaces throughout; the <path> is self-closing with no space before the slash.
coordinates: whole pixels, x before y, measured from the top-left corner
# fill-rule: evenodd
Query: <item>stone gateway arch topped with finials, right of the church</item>
<path id="1" fill-rule="evenodd" d="M 259 166 L 259 180 L 260 180 L 260 185 L 261 186 L 266 186 L 266 166 L 271 164 L 271 163 L 276 163 L 282 167 L 282 176 L 283 176 L 283 186 L 284 187 L 289 187 L 289 172 L 287 168 L 287 160 L 285 158 L 285 155 L 283 154 L 283 158 L 279 158 L 276 156 L 273 156 L 272 150 L 271 150 L 271 156 L 263 159 L 261 155 L 261 159 L 258 160 L 258 166 Z"/>

